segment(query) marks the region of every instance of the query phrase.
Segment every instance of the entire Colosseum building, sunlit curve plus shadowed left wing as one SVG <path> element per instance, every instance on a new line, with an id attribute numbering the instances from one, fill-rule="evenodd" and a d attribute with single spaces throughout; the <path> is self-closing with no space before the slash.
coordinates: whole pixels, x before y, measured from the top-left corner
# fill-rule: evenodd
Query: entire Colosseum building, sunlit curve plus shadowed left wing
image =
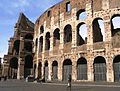
<path id="1" fill-rule="evenodd" d="M 46 81 L 66 81 L 69 74 L 73 81 L 120 81 L 119 0 L 63 0 L 36 20 L 34 30 L 23 25 L 30 35 L 25 29 L 15 31 L 19 39 L 14 36 L 4 57 L 3 74 L 17 79 L 32 74 Z"/>

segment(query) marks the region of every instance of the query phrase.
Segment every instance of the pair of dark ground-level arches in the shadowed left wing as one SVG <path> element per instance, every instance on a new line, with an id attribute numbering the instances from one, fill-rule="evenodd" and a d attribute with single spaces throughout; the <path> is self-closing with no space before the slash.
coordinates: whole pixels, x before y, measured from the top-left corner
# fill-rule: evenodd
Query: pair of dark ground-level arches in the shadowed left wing
<path id="1" fill-rule="evenodd" d="M 32 75 L 33 69 L 33 57 L 32 55 L 27 55 L 24 59 L 24 78 L 28 75 Z M 10 59 L 9 65 L 9 77 L 10 78 L 17 78 L 17 70 L 18 70 L 18 58 L 13 57 Z"/>

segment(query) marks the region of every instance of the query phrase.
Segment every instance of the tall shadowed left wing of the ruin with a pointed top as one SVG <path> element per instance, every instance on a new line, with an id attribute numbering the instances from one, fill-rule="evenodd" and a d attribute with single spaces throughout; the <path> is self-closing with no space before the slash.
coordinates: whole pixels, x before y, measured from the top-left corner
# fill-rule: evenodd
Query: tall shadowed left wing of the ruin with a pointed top
<path id="1" fill-rule="evenodd" d="M 4 56 L 2 75 L 20 79 L 28 74 L 26 69 L 29 71 L 32 69 L 28 56 L 33 57 L 33 35 L 34 24 L 23 13 L 20 13 L 14 27 L 14 35 L 9 40 L 8 54 Z"/>

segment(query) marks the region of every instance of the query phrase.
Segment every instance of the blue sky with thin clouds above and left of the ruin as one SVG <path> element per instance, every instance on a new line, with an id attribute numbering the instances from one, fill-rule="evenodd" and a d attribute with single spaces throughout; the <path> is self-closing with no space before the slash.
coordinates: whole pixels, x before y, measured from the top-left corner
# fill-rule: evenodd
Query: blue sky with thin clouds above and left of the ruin
<path id="1" fill-rule="evenodd" d="M 8 51 L 8 40 L 14 34 L 19 13 L 35 20 L 49 7 L 63 0 L 0 0 L 0 57 Z"/>

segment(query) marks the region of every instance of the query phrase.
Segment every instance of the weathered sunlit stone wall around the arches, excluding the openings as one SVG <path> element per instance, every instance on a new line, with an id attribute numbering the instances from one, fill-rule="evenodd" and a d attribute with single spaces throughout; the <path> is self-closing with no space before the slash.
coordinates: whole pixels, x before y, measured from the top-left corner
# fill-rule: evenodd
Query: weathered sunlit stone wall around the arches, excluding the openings
<path id="1" fill-rule="evenodd" d="M 66 12 L 67 2 L 71 4 L 70 12 Z M 77 20 L 76 14 L 80 9 L 86 10 L 87 18 L 85 20 Z M 47 15 L 48 11 L 51 12 L 49 17 Z M 42 63 L 42 76 L 44 77 L 44 63 L 47 60 L 49 64 L 48 79 L 52 80 L 52 62 L 56 60 L 58 62 L 58 80 L 62 80 L 63 62 L 65 59 L 71 59 L 72 79 L 77 81 L 77 60 L 84 57 L 87 60 L 88 67 L 87 81 L 94 81 L 94 59 L 98 56 L 102 56 L 106 60 L 106 79 L 108 82 L 114 82 L 113 59 L 115 56 L 119 55 L 120 48 L 117 46 L 116 49 L 112 44 L 117 40 L 112 42 L 115 38 L 112 39 L 111 36 L 110 20 L 114 14 L 119 13 L 119 0 L 64 0 L 49 8 L 38 18 L 35 24 L 34 42 L 36 38 L 39 40 L 39 38 L 43 36 L 43 52 L 35 52 L 36 58 L 34 59 L 35 64 L 39 62 Z M 93 20 L 96 18 L 101 18 L 104 21 L 105 40 L 93 43 L 92 24 Z M 87 25 L 87 44 L 77 46 L 77 25 L 81 22 Z M 64 27 L 67 24 L 70 24 L 72 27 L 72 42 L 64 44 Z M 44 26 L 44 33 L 40 34 L 40 27 L 42 25 Z M 57 47 L 53 47 L 53 32 L 56 28 L 60 29 L 60 44 Z M 45 35 L 47 32 L 50 32 L 50 50 L 45 51 Z M 37 49 L 39 50 L 39 47 L 37 47 Z M 36 70 L 38 71 L 37 68 Z M 38 74 L 38 72 L 36 74 Z"/>

